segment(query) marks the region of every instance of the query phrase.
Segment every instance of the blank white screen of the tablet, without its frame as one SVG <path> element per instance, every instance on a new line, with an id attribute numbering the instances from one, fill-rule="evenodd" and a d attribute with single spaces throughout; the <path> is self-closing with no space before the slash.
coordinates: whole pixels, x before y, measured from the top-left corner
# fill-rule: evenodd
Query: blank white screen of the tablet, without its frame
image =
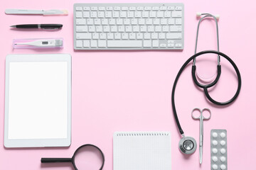
<path id="1" fill-rule="evenodd" d="M 68 136 L 68 62 L 10 62 L 11 139 Z"/>

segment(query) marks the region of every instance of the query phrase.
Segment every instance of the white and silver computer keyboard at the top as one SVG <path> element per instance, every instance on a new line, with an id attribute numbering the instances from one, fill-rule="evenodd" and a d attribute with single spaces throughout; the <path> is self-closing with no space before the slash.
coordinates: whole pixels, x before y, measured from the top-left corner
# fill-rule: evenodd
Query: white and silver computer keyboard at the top
<path id="1" fill-rule="evenodd" d="M 74 4 L 75 50 L 182 50 L 184 6 Z"/>

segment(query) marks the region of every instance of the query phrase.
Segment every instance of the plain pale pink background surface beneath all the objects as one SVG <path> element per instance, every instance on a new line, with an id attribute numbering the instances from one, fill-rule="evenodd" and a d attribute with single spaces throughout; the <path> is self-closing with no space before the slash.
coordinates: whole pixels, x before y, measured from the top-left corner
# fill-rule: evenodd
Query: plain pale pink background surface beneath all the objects
<path id="1" fill-rule="evenodd" d="M 172 169 L 210 169 L 210 130 L 228 130 L 228 169 L 255 167 L 255 3 L 254 1 L 181 1 L 185 6 L 185 47 L 171 51 L 89 51 L 73 50 L 73 4 L 78 2 L 159 2 L 103 0 L 4 0 L 0 5 L 0 169 L 73 169 L 69 164 L 41 165 L 41 157 L 70 157 L 80 145 L 91 143 L 105 153 L 104 169 L 112 169 L 112 135 L 115 131 L 171 131 Z M 172 2 L 162 0 L 161 2 Z M 178 1 L 173 1 L 178 2 Z M 68 9 L 68 16 L 7 16 L 6 8 Z M 212 117 L 204 123 L 203 164 L 198 149 L 191 157 L 178 150 L 180 135 L 171 110 L 171 89 L 183 62 L 194 52 L 196 12 L 220 14 L 220 51 L 230 56 L 240 69 L 242 90 L 228 107 L 213 106 L 191 79 L 191 65 L 183 72 L 176 89 L 176 108 L 185 135 L 199 137 L 199 121 L 191 118 L 193 108 L 210 108 Z M 11 30 L 22 23 L 62 23 L 63 29 L 50 31 Z M 63 50 L 12 50 L 14 38 L 64 38 Z M 216 49 L 215 25 L 203 21 L 198 51 Z M 69 53 L 73 56 L 72 145 L 68 148 L 4 148 L 4 72 L 9 54 Z M 202 77 L 215 74 L 216 57 L 197 60 Z M 208 58 L 207 58 L 208 57 Z M 234 70 L 221 60 L 222 76 L 210 92 L 213 98 L 228 100 L 237 88 Z"/>

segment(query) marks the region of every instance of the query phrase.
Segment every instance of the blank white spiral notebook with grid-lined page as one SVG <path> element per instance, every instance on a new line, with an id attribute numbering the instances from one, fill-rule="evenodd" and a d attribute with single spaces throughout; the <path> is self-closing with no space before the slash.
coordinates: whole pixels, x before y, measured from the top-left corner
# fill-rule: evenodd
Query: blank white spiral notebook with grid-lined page
<path id="1" fill-rule="evenodd" d="M 170 132 L 114 132 L 114 170 L 171 170 Z"/>

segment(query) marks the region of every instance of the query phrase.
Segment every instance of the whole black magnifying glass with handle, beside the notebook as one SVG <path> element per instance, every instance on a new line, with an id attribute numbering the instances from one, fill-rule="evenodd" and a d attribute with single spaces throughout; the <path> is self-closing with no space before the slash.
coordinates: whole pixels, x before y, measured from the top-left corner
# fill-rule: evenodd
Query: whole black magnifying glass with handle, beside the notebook
<path id="1" fill-rule="evenodd" d="M 86 144 L 75 150 L 72 158 L 42 158 L 41 163 L 71 162 L 75 170 L 99 169 L 102 170 L 105 157 L 99 147 Z"/>

